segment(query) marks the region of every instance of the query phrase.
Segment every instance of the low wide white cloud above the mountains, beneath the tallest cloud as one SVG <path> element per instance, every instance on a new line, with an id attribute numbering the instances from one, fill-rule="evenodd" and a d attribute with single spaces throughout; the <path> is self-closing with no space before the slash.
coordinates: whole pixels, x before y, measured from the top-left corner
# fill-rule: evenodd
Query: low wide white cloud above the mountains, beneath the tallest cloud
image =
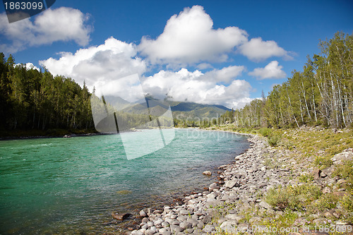
<path id="1" fill-rule="evenodd" d="M 217 76 L 217 71 L 213 74 Z M 217 78 L 211 80 L 201 71 L 191 72 L 186 68 L 177 72 L 160 71 L 145 78 L 142 85 L 145 92 L 155 97 L 167 95 L 175 101 L 222 104 L 229 108 L 244 107 L 244 101 L 250 99 L 251 90 L 246 80 L 232 80 L 227 86 L 218 85 Z"/>

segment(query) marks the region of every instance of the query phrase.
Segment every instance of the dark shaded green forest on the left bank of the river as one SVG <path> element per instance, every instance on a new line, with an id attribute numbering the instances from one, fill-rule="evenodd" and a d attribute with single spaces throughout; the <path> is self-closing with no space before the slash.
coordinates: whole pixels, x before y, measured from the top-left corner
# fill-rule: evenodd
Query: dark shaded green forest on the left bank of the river
<path id="1" fill-rule="evenodd" d="M 0 53 L 0 130 L 94 128 L 90 92 L 71 78 L 16 65 Z"/>

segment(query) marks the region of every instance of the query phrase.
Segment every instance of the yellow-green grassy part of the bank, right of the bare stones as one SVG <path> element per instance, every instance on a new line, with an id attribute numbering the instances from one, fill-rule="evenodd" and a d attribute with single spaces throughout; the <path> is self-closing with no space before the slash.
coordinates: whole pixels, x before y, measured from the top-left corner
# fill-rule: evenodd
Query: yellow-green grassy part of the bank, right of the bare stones
<path id="1" fill-rule="evenodd" d="M 352 128 L 245 129 L 231 123 L 210 129 L 260 135 L 267 138 L 268 146 L 271 136 L 279 137 L 276 146 L 270 148 L 273 154 L 268 155 L 263 164 L 274 171 L 288 169 L 287 181 L 291 183 L 268 188 L 265 193 L 259 191 L 258 200 L 268 203 L 271 209 L 263 210 L 253 205 L 241 212 L 244 217 L 241 222 L 254 225 L 252 218 L 256 217 L 255 225 L 262 224 L 278 231 L 303 226 L 312 230 L 321 226 L 327 230 L 344 224 L 353 225 Z"/>

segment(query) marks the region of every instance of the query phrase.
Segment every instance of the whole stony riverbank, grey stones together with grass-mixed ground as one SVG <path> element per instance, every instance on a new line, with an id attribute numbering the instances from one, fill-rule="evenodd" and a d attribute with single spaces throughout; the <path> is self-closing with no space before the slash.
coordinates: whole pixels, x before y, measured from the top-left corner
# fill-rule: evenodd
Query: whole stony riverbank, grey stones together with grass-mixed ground
<path id="1" fill-rule="evenodd" d="M 208 191 L 186 196 L 182 205 L 141 210 L 138 229 L 127 234 L 315 234 L 319 231 L 328 234 L 323 230 L 326 225 L 335 227 L 334 232 L 341 231 L 342 226 L 346 234 L 349 229 L 353 230 L 342 220 L 339 203 L 328 207 L 330 210 L 312 209 L 319 206 L 319 195 L 326 199 L 331 195 L 347 196 L 342 188 L 345 180 L 332 174 L 336 164 L 353 159 L 352 149 L 335 155 L 333 166 L 321 171 L 312 167 L 312 159 L 296 157 L 295 151 L 269 147 L 266 138 L 251 135 L 249 141 L 252 143 L 249 150 L 235 157 L 234 163 L 219 168 L 222 172 L 218 181 Z M 301 179 L 310 182 L 304 183 Z M 278 193 L 281 188 L 287 188 L 282 192 L 284 195 L 270 198 L 268 191 Z M 292 199 L 281 201 L 281 197 L 288 198 L 291 193 L 297 195 L 296 190 L 302 191 L 293 199 L 297 202 L 299 198 L 297 204 L 290 204 Z M 265 200 L 266 194 L 268 200 Z M 266 202 L 271 200 L 275 202 Z M 297 208 L 305 203 L 311 212 L 305 213 L 304 207 Z M 294 210 L 289 210 L 291 206 Z"/>

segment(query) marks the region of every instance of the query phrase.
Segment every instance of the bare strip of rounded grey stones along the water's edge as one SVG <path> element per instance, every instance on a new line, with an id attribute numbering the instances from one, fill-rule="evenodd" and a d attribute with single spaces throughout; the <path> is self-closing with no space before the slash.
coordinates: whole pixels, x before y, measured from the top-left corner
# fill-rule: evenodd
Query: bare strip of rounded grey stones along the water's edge
<path id="1" fill-rule="evenodd" d="M 244 219 L 238 212 L 248 210 L 251 205 L 270 205 L 261 201 L 257 191 L 265 191 L 269 186 L 287 181 L 287 169 L 267 169 L 263 164 L 264 153 L 271 152 L 266 140 L 252 135 L 251 148 L 235 157 L 234 164 L 221 166 L 223 170 L 217 183 L 212 183 L 208 191 L 185 197 L 184 204 L 164 207 L 162 210 L 141 210 L 140 229 L 131 234 L 208 234 L 216 229 L 237 225 Z M 227 210 L 225 217 L 219 210 Z M 219 214 L 219 215 L 218 215 Z"/>

